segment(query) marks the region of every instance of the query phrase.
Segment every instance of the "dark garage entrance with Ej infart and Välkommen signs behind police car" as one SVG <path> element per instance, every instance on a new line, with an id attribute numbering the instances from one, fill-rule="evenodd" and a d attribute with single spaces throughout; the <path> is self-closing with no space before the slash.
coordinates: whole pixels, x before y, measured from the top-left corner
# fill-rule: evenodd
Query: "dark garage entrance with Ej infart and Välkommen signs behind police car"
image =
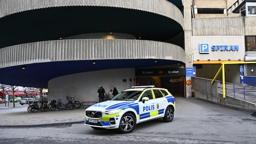
<path id="1" fill-rule="evenodd" d="M 155 85 L 168 89 L 174 96 L 186 97 L 185 70 L 136 69 L 136 85 Z"/>

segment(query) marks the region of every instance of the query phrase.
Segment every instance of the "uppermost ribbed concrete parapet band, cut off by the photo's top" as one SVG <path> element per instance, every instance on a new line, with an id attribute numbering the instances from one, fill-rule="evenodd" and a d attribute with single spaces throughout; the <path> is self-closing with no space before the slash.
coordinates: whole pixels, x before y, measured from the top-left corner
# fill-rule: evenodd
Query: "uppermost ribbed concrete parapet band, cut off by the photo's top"
<path id="1" fill-rule="evenodd" d="M 60 6 L 108 6 L 148 11 L 174 19 L 183 27 L 182 13 L 167 0 L 0 0 L 0 18 L 22 11 Z"/>

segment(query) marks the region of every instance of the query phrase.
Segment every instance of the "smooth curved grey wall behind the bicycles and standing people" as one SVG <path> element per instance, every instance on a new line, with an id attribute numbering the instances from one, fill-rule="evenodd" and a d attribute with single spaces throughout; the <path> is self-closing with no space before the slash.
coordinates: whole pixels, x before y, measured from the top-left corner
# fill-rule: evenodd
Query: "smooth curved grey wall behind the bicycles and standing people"
<path id="1" fill-rule="evenodd" d="M 123 82 L 123 79 L 127 81 Z M 100 70 L 61 76 L 49 81 L 48 92 L 50 96 L 48 99 L 62 99 L 65 104 L 66 96 L 69 95 L 71 97 L 76 96 L 75 99 L 80 102 L 98 102 L 97 91 L 101 85 L 106 91 L 104 100 L 108 100 L 108 92 L 111 89 L 116 87 L 118 92 L 121 92 L 136 85 L 134 79 L 134 68 Z"/>

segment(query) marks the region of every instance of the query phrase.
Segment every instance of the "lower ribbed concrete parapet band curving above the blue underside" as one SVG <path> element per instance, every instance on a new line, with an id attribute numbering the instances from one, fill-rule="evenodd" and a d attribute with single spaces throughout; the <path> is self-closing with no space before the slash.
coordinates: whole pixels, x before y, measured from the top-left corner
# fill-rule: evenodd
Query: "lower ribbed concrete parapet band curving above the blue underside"
<path id="1" fill-rule="evenodd" d="M 0 49 L 0 68 L 52 61 L 168 59 L 184 62 L 184 50 L 150 40 L 71 39 L 19 44 Z"/>

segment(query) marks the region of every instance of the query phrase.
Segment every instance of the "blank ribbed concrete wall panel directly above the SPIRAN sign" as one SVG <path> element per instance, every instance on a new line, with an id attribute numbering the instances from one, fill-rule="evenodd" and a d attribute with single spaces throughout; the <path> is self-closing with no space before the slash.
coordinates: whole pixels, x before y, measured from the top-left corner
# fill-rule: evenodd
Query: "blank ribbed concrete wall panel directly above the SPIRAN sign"
<path id="1" fill-rule="evenodd" d="M 251 30 L 251 27 L 248 29 Z M 244 19 L 243 17 L 192 19 L 192 32 L 193 36 L 241 36 L 244 35 Z"/>

